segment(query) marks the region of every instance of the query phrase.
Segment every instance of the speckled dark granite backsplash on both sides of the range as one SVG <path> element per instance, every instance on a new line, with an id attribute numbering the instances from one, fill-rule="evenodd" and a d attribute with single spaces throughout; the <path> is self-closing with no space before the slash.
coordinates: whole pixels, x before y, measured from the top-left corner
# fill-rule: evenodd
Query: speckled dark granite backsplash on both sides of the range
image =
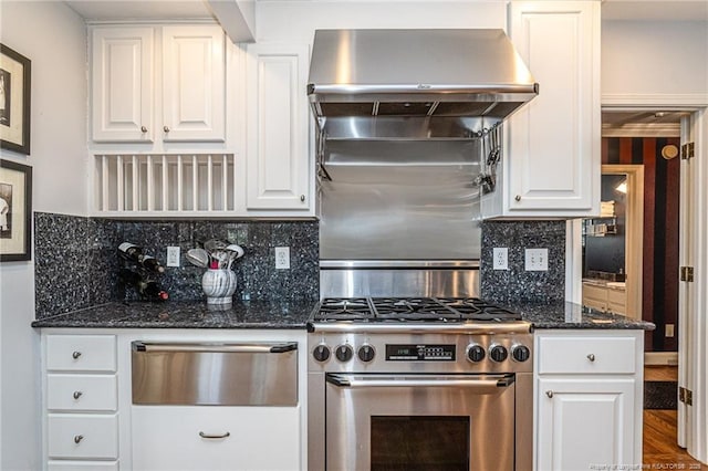
<path id="1" fill-rule="evenodd" d="M 564 221 L 485 221 L 481 224 L 480 294 L 490 302 L 562 301 L 565 297 Z M 128 241 L 166 262 L 166 248 L 180 249 L 180 266 L 167 268 L 162 286 L 174 301 L 205 299 L 204 269 L 185 254 L 200 241 L 226 239 L 246 254 L 235 264 L 237 299 L 317 300 L 319 222 L 225 220 L 114 220 L 34 213 L 35 317 L 134 300 L 117 281 L 116 248 Z M 290 247 L 290 270 L 275 270 L 274 248 Z M 492 270 L 494 247 L 509 249 L 509 270 Z M 549 270 L 524 270 L 524 249 L 548 248 Z"/>

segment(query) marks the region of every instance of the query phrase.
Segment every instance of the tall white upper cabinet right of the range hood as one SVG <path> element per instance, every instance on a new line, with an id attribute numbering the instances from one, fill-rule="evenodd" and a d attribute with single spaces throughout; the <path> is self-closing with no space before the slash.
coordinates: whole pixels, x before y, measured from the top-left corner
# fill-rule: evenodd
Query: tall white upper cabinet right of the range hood
<path id="1" fill-rule="evenodd" d="M 513 216 L 597 212 L 600 2 L 513 1 L 510 35 L 539 95 L 507 123 L 504 207 Z"/>

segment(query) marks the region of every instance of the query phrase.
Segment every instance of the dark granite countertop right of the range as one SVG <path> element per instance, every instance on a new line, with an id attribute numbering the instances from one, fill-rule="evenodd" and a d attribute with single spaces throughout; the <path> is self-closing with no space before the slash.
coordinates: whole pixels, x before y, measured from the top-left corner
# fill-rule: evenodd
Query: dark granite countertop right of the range
<path id="1" fill-rule="evenodd" d="M 569 302 L 514 303 L 504 307 L 521 313 L 534 328 L 614 328 L 654 331 L 650 322 L 584 307 Z"/>

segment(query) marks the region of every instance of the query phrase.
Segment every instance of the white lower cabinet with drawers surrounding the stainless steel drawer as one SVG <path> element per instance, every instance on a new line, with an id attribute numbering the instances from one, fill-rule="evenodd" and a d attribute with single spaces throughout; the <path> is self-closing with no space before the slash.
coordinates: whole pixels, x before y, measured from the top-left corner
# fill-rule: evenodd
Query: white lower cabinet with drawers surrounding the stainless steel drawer
<path id="1" fill-rule="evenodd" d="M 306 469 L 304 328 L 44 328 L 41 339 L 45 471 Z M 296 404 L 134 405 L 135 341 L 295 343 Z"/>

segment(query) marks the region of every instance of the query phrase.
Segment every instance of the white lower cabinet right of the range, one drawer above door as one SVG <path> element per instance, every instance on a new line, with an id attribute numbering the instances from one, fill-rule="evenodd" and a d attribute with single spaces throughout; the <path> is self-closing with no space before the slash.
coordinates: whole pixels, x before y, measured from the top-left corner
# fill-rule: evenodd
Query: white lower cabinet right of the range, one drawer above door
<path id="1" fill-rule="evenodd" d="M 642 463 L 642 331 L 537 331 L 537 470 Z"/>

